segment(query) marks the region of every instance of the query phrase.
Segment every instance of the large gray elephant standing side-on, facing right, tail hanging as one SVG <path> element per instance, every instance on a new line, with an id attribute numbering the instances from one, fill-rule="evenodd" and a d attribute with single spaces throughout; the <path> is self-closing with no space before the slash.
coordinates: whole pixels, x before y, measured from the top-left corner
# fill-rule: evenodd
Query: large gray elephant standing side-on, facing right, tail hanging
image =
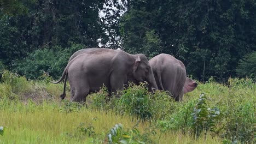
<path id="1" fill-rule="evenodd" d="M 71 101 L 85 101 L 90 92 L 99 91 L 106 86 L 109 92 L 122 90 L 129 80 L 147 81 L 158 88 L 148 59 L 143 54 L 130 55 L 121 50 L 98 49 L 75 56 L 63 71 L 71 87 Z M 65 91 L 62 94 L 65 97 Z"/>

